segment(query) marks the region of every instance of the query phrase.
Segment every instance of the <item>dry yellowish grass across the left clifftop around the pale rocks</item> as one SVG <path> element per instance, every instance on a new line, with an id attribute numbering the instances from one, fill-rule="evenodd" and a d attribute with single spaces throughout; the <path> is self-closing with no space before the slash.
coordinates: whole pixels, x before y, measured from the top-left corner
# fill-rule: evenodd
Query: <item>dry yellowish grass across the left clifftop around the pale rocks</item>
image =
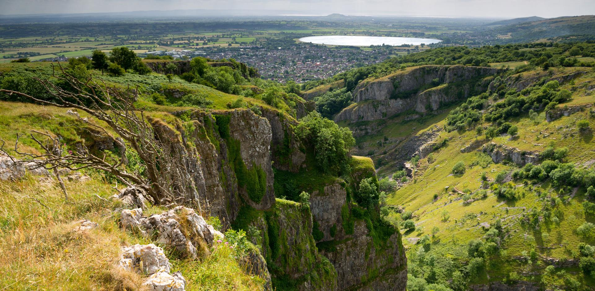
<path id="1" fill-rule="evenodd" d="M 46 68 L 48 64 L 26 65 Z M 2 69 L 7 67 L 3 65 Z M 122 78 L 130 80 L 111 78 L 109 81 L 134 82 L 137 77 L 129 74 Z M 161 81 L 159 75 L 145 77 Z M 237 98 L 218 91 L 211 97 L 216 99 L 216 108 Z M 142 105 L 143 101 L 139 103 Z M 167 112 L 183 109 L 145 103 L 152 105 L 149 115 L 166 120 L 173 118 Z M 65 111 L 32 103 L 0 102 L 0 139 L 11 147 L 17 134 L 28 134 L 36 129 L 60 134 L 70 146 L 84 137 L 74 126 L 68 126 L 77 124 L 77 120 Z M 81 116 L 87 117 L 84 113 Z M 39 150 L 32 140 L 24 137 L 20 141 L 23 143 L 21 151 Z M 57 184 L 42 185 L 36 177 L 19 182 L 0 181 L 0 252 L 5 254 L 0 262 L 0 289 L 52 290 L 60 286 L 62 290 L 143 290 L 143 277 L 113 265 L 121 246 L 155 242 L 119 227 L 118 215 L 112 213 L 119 205 L 96 197 L 97 194 L 109 198 L 114 191 L 102 176 L 92 177 L 91 181 L 67 182 L 69 201 L 64 201 Z M 145 215 L 164 210 L 152 207 Z M 73 223 L 81 219 L 98 222 L 100 227 L 83 234 L 71 232 Z M 197 261 L 176 260 L 171 249 L 164 248 L 173 271 L 181 271 L 189 281 L 186 290 L 255 290 L 263 284 L 259 277 L 246 274 L 227 248 L 214 249 L 208 258 Z"/>

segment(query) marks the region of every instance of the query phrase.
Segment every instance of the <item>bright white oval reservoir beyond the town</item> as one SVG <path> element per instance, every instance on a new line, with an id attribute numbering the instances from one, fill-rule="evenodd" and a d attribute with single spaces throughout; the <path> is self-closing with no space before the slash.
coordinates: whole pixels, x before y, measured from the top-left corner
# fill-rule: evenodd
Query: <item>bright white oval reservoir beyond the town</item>
<path id="1" fill-rule="evenodd" d="M 300 42 L 318 43 L 319 45 L 336 46 L 380 46 L 380 45 L 421 45 L 425 43 L 439 43 L 439 39 L 419 39 L 417 37 L 388 37 L 388 36 L 308 36 L 299 39 Z"/>

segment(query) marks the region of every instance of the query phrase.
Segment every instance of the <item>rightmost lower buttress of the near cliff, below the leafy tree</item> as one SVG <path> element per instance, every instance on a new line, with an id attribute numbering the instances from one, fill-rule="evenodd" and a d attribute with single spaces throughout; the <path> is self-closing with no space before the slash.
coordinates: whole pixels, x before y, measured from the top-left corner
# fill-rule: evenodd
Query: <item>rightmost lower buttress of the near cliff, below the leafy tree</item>
<path id="1" fill-rule="evenodd" d="M 371 163 L 371 161 L 369 161 Z M 374 174 L 367 169 L 352 173 L 354 184 Z M 321 254 L 337 271 L 338 290 L 405 290 L 407 281 L 405 249 L 398 230 L 382 245 L 374 243 L 365 220 L 350 217 L 346 184 L 342 180 L 314 191 L 310 198 L 312 219 L 323 233 L 318 241 Z M 353 231 L 344 229 L 355 220 Z"/>

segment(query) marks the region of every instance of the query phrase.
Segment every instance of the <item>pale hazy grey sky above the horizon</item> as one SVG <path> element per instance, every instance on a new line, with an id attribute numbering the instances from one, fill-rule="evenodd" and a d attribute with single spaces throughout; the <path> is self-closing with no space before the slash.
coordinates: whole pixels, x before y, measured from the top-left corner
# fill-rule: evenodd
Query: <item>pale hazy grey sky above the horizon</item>
<path id="1" fill-rule="evenodd" d="M 513 18 L 595 14 L 595 0 L 0 0 L 0 14 L 176 9 Z"/>

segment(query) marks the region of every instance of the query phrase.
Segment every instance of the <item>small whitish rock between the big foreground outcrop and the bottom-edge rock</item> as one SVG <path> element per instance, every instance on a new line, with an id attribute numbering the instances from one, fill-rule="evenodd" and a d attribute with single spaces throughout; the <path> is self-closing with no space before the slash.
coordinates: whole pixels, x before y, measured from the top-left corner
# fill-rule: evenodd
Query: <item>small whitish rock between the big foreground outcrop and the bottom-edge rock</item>
<path id="1" fill-rule="evenodd" d="M 143 274 L 154 274 L 158 271 L 170 273 L 170 260 L 165 257 L 162 248 L 149 243 L 133 245 L 122 249 L 118 265 L 125 270 Z"/>

